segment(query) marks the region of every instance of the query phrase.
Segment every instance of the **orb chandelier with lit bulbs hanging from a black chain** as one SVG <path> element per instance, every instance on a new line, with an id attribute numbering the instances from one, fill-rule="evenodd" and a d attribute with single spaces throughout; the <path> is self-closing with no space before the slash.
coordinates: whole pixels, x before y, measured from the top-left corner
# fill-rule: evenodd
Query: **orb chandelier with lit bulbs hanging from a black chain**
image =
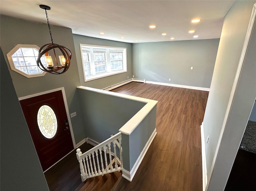
<path id="1" fill-rule="evenodd" d="M 52 32 L 50 29 L 50 24 L 48 21 L 48 16 L 47 16 L 47 11 L 46 11 L 46 10 L 50 10 L 51 8 L 47 5 L 40 5 L 39 7 L 45 10 L 47 24 L 48 24 L 48 28 L 49 28 L 49 32 L 50 32 L 50 37 L 52 40 Z M 55 57 L 54 62 L 52 61 L 52 57 L 48 53 L 50 50 L 51 50 L 51 52 L 54 53 L 54 57 Z M 61 55 L 58 55 L 58 57 L 59 57 L 58 59 L 56 56 L 56 52 L 57 53 L 59 52 L 61 54 Z M 43 58 L 42 58 L 42 56 L 43 56 Z M 36 60 L 36 63 L 37 63 L 37 66 L 45 72 L 50 72 L 52 74 L 63 74 L 64 72 L 66 72 L 68 70 L 68 68 L 70 66 L 71 56 L 72 56 L 72 54 L 68 48 L 66 48 L 65 46 L 54 44 L 53 40 L 52 40 L 52 43 L 45 44 L 44 46 L 42 46 L 39 49 L 38 58 Z M 42 60 L 44 60 L 43 63 L 42 63 L 41 58 L 42 58 Z"/>

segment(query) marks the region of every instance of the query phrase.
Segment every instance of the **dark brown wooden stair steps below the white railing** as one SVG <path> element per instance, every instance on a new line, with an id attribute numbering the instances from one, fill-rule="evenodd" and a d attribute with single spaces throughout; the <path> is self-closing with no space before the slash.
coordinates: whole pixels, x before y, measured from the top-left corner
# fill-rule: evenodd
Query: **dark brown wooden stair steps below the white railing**
<path id="1" fill-rule="evenodd" d="M 114 190 L 114 185 L 118 184 L 118 179 L 122 177 L 122 171 L 104 174 L 86 179 L 82 182 L 75 191 L 111 191 Z"/>

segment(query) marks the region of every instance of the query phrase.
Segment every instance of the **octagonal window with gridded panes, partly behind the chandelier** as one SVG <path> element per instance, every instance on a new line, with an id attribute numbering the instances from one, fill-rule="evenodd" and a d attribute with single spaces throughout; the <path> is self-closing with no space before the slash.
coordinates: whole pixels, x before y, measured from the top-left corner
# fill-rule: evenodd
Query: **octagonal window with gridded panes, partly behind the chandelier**
<path id="1" fill-rule="evenodd" d="M 25 49 L 31 49 L 30 55 L 24 55 Z M 18 74 L 21 74 L 22 76 L 25 76 L 27 78 L 34 78 L 34 77 L 40 77 L 44 76 L 46 72 L 42 71 L 37 65 L 36 65 L 36 60 L 38 58 L 38 50 L 40 48 L 36 45 L 33 44 L 17 44 L 10 52 L 7 54 L 7 58 L 10 64 L 10 68 L 14 71 L 17 72 Z M 20 50 L 20 51 L 18 51 Z M 16 55 L 14 55 L 16 53 Z M 14 64 L 14 60 L 19 60 L 16 65 Z M 21 61 L 20 61 L 21 60 Z M 33 62 L 31 64 L 31 62 Z M 45 63 L 44 56 L 41 58 L 42 63 Z M 31 73 L 29 72 L 30 70 L 38 70 L 38 73 Z M 26 72 L 23 72 L 21 69 L 24 69 Z"/>

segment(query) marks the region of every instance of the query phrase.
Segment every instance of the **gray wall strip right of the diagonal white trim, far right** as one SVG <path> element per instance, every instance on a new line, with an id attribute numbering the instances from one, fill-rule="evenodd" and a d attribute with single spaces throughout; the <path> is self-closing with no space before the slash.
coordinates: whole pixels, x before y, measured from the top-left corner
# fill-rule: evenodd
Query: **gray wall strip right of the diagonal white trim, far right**
<path id="1" fill-rule="evenodd" d="M 255 26 L 256 22 L 254 22 Z M 256 98 L 256 27 L 252 33 L 236 94 L 221 141 L 210 190 L 224 189 Z M 245 93 L 246 92 L 246 93 Z M 225 162 L 224 162 L 225 161 Z"/>

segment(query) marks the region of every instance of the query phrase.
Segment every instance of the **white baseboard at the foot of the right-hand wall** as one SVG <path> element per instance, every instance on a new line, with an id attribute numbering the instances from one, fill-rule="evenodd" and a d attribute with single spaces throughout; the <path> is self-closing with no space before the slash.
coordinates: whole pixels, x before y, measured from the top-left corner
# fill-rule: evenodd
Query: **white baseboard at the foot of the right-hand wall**
<path id="1" fill-rule="evenodd" d="M 207 169 L 206 169 L 206 153 L 204 142 L 204 122 L 201 125 L 201 144 L 202 144 L 202 175 L 203 175 L 203 191 L 206 190 L 207 185 Z"/>

